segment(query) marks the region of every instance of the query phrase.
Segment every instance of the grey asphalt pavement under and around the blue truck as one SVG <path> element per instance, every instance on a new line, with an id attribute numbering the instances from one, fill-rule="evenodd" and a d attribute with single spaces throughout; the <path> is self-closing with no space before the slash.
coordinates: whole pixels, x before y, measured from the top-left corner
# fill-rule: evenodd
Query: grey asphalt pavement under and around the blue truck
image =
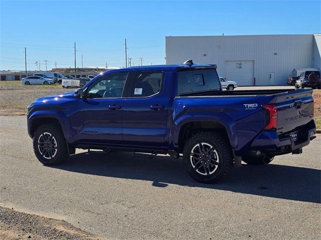
<path id="1" fill-rule="evenodd" d="M 320 135 L 300 155 L 201 184 L 181 160 L 78 151 L 36 159 L 26 116 L 0 116 L 0 205 L 64 219 L 108 239 L 319 239 Z"/>

